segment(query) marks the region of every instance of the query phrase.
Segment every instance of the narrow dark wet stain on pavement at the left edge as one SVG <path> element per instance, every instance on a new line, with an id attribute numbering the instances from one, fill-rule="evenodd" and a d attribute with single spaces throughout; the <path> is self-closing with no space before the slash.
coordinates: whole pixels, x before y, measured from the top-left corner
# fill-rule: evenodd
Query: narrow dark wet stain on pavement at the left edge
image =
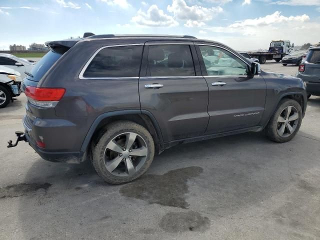
<path id="1" fill-rule="evenodd" d="M 18 183 L 0 188 L 0 198 L 18 197 L 34 192 L 38 189 L 47 190 L 51 186 L 50 183 Z"/>

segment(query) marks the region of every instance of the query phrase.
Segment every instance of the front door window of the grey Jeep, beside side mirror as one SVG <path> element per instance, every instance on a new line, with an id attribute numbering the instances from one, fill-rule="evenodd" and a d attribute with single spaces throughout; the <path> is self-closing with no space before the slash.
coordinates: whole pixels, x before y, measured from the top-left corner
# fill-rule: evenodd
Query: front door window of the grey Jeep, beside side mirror
<path id="1" fill-rule="evenodd" d="M 222 48 L 199 45 L 208 76 L 247 75 L 247 64 Z"/>

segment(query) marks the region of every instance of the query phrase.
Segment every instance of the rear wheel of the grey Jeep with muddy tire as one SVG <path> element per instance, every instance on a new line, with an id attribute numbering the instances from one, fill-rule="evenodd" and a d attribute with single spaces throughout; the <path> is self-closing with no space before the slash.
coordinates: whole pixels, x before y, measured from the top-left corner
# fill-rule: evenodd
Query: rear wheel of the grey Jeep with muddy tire
<path id="1" fill-rule="evenodd" d="M 140 177 L 154 156 L 154 142 L 143 126 L 132 121 L 116 121 L 93 147 L 92 165 L 104 181 L 120 184 Z"/>

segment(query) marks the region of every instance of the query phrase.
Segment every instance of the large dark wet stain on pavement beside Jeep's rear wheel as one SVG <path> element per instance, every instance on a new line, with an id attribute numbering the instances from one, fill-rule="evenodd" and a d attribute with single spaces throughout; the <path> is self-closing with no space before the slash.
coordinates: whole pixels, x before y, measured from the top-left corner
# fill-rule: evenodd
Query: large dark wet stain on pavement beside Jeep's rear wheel
<path id="1" fill-rule="evenodd" d="M 122 186 L 120 193 L 149 203 L 187 208 L 187 180 L 198 176 L 202 171 L 201 167 L 190 166 L 171 170 L 163 175 L 147 174 Z"/>

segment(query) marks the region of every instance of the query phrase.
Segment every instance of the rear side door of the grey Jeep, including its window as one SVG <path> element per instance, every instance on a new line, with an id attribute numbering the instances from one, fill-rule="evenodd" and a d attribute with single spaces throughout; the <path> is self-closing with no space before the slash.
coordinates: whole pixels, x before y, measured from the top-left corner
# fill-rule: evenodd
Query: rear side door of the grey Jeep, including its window
<path id="1" fill-rule="evenodd" d="M 208 87 L 192 42 L 146 42 L 139 95 L 141 109 L 156 118 L 165 142 L 204 133 Z"/>

